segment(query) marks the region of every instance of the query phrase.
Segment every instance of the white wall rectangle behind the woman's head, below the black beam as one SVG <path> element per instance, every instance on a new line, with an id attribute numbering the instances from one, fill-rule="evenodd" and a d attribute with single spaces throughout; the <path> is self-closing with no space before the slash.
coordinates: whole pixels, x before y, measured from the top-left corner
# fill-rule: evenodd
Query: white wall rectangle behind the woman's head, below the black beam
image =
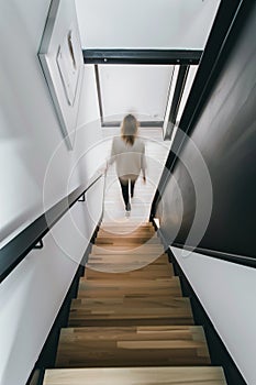
<path id="1" fill-rule="evenodd" d="M 135 113 L 140 121 L 163 121 L 172 66 L 100 65 L 104 121 Z"/>

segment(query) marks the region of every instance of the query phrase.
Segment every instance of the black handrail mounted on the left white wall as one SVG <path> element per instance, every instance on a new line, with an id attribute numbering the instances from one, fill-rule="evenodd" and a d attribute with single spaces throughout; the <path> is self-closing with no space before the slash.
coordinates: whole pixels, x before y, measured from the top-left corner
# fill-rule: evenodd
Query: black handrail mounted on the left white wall
<path id="1" fill-rule="evenodd" d="M 98 175 L 89 185 L 80 185 L 73 193 L 60 199 L 0 250 L 0 283 L 24 260 L 27 253 L 45 237 L 70 207 L 103 175 Z"/>

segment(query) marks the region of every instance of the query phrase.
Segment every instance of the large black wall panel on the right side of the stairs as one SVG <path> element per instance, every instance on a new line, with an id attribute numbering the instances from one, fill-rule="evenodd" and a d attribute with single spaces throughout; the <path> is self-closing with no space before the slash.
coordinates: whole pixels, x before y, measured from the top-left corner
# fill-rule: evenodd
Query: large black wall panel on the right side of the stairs
<path id="1" fill-rule="evenodd" d="M 234 42 L 230 57 L 199 118 L 191 140 L 208 166 L 213 208 L 199 246 L 256 257 L 256 7 Z M 187 172 L 185 164 L 189 164 Z M 181 190 L 183 215 L 176 242 L 185 243 L 197 208 L 192 185 L 204 186 L 191 146 L 185 145 L 174 175 Z M 190 168 L 193 170 L 192 176 Z M 194 176 L 196 175 L 196 176 Z M 163 215 L 164 232 L 176 228 L 171 211 L 177 190 L 171 178 L 165 190 L 169 204 Z M 197 179 L 197 180 L 193 180 Z M 207 182 L 205 182 L 207 183 Z M 205 197 L 207 199 L 207 197 Z"/>

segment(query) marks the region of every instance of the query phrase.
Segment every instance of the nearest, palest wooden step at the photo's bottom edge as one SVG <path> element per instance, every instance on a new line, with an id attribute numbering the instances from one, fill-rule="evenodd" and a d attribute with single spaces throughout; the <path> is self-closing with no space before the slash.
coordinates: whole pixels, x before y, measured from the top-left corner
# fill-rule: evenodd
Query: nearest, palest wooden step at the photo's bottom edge
<path id="1" fill-rule="evenodd" d="M 221 367 L 55 369 L 43 385 L 226 385 Z"/>

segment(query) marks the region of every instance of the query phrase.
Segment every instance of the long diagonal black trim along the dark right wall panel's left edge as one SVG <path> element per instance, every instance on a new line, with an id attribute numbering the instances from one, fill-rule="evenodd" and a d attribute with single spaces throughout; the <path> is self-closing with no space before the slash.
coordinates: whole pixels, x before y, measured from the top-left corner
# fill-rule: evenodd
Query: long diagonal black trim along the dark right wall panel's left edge
<path id="1" fill-rule="evenodd" d="M 191 134 L 219 77 L 221 67 L 229 57 L 229 51 L 233 47 L 234 35 L 240 33 L 253 6 L 254 2 L 251 0 L 225 0 L 221 2 L 179 123 L 179 129 L 186 132 L 187 135 Z M 178 148 L 178 151 L 172 153 L 170 148 L 167 157 L 165 169 L 168 169 L 169 173 L 163 172 L 158 189 L 153 199 L 151 218 L 155 217 L 160 194 L 165 190 L 170 173 L 177 162 L 178 153 L 183 145 L 183 140 L 178 141 L 175 139 L 172 143 L 172 147 Z"/>

